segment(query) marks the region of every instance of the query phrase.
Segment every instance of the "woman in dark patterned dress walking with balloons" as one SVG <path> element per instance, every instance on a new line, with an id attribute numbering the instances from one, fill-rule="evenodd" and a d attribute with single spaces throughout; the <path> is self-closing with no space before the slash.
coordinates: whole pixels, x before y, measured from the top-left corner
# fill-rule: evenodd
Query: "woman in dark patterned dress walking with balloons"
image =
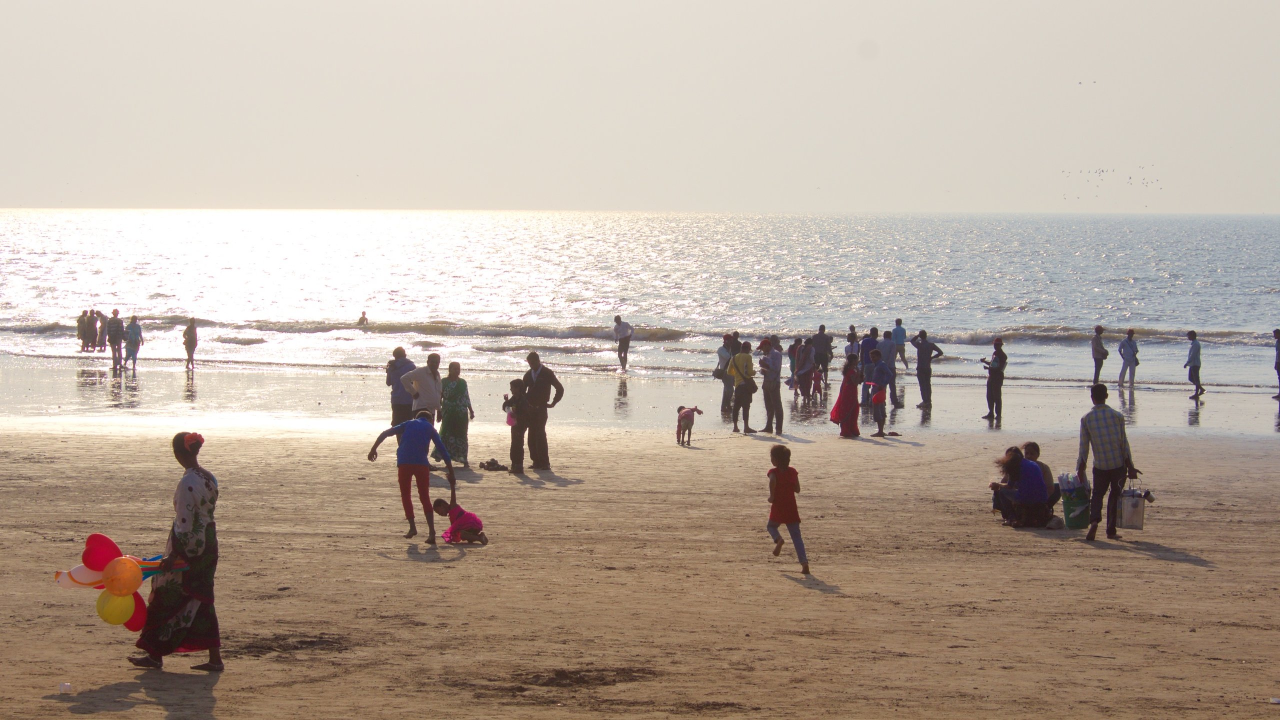
<path id="1" fill-rule="evenodd" d="M 137 646 L 146 655 L 131 657 L 138 667 L 161 667 L 174 652 L 209 651 L 209 662 L 192 670 L 223 670 L 221 637 L 214 611 L 214 571 L 218 569 L 218 479 L 200 466 L 205 438 L 197 433 L 173 436 L 173 455 L 187 469 L 173 496 L 175 518 L 160 561 L 160 574 L 151 579 L 147 623 Z M 186 570 L 174 571 L 177 562 Z"/>

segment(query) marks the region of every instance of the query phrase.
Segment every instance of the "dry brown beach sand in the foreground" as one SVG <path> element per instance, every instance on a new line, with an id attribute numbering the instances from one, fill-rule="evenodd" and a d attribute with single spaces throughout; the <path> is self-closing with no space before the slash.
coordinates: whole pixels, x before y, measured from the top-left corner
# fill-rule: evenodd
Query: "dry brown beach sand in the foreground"
<path id="1" fill-rule="evenodd" d="M 1147 530 L 1094 544 L 989 514 L 992 459 L 1032 439 L 1009 429 L 795 438 L 805 578 L 790 544 L 769 555 L 769 441 L 716 423 L 690 450 L 553 424 L 554 474 L 460 473 L 493 542 L 435 548 L 401 538 L 372 433 L 206 433 L 216 676 L 182 657 L 133 669 L 134 635 L 95 616 L 95 593 L 52 584 L 88 533 L 155 553 L 172 519 L 166 438 L 99 423 L 0 434 L 8 717 L 1277 712 L 1274 438 L 1135 434 Z M 1070 470 L 1074 432 L 1034 439 Z M 472 460 L 504 447 L 481 428 Z"/>

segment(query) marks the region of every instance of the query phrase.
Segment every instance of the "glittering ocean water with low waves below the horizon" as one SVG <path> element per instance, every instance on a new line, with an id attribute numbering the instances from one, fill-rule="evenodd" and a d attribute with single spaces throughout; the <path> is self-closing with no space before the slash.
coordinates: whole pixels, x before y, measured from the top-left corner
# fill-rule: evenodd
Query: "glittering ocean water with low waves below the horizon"
<path id="1" fill-rule="evenodd" d="M 79 356 L 81 310 L 119 309 L 143 363 L 182 357 L 196 316 L 205 361 L 376 368 L 404 346 L 613 373 L 621 314 L 632 375 L 687 378 L 731 329 L 902 318 L 947 352 L 937 375 L 980 378 L 1000 334 L 1011 378 L 1084 380 L 1102 324 L 1105 377 L 1135 328 L 1139 384 L 1184 382 L 1196 329 L 1208 384 L 1262 392 L 1280 327 L 1277 217 L 4 210 L 0 265 L 0 352 Z"/>

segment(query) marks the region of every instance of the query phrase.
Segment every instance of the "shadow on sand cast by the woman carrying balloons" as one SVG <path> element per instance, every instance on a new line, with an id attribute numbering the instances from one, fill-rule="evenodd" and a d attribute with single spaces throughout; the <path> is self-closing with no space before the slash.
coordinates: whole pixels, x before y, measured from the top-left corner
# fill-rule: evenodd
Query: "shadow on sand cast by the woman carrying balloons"
<path id="1" fill-rule="evenodd" d="M 191 660 L 172 656 L 169 662 Z M 123 662 L 124 659 L 122 657 Z M 145 670 L 133 680 L 111 683 L 91 691 L 74 694 L 50 694 L 45 700 L 63 702 L 72 715 L 96 715 L 99 712 L 131 712 L 145 707 L 161 707 L 165 717 L 204 720 L 214 716 L 214 685 L 221 679 L 220 673 L 165 673 Z"/>

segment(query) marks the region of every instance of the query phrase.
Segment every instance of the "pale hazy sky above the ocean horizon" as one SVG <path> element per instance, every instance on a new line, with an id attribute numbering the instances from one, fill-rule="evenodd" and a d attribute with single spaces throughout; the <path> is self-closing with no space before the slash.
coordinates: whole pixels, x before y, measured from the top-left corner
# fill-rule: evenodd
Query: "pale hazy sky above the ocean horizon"
<path id="1" fill-rule="evenodd" d="M 0 0 L 0 206 L 1280 213 L 1277 31 L 1276 1 Z"/>

